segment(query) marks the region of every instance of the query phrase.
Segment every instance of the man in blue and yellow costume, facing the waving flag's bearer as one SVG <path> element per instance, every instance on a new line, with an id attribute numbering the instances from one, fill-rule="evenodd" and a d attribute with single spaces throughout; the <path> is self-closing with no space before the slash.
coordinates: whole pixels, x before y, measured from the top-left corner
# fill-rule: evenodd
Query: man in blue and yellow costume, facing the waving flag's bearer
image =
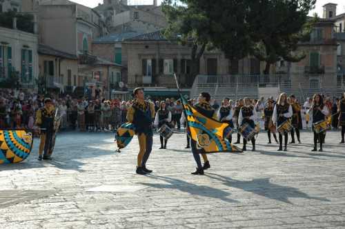
<path id="1" fill-rule="evenodd" d="M 146 168 L 146 162 L 152 150 L 152 122 L 155 119 L 155 104 L 144 100 L 144 90 L 133 90 L 135 100 L 127 110 L 127 120 L 135 126 L 135 134 L 139 140 L 137 157 L 137 174 L 145 175 L 152 172 Z"/>

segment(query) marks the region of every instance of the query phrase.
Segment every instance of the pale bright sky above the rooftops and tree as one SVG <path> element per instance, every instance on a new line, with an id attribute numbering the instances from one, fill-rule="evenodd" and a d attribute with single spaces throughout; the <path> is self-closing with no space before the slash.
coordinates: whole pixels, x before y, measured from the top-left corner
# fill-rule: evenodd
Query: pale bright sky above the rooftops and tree
<path id="1" fill-rule="evenodd" d="M 94 8 L 98 6 L 98 3 L 103 3 L 103 0 L 70 0 L 77 2 L 79 4 L 88 6 L 90 8 Z M 160 4 L 162 0 L 158 0 L 158 3 Z M 153 0 L 128 0 L 128 3 L 130 5 L 146 5 L 146 4 L 152 4 Z M 317 0 L 316 6 L 313 11 L 310 12 L 310 15 L 313 15 L 315 12 L 319 14 L 319 17 L 322 17 L 322 6 L 326 3 L 336 3 L 337 6 L 337 14 L 342 14 L 345 12 L 345 0 Z"/>

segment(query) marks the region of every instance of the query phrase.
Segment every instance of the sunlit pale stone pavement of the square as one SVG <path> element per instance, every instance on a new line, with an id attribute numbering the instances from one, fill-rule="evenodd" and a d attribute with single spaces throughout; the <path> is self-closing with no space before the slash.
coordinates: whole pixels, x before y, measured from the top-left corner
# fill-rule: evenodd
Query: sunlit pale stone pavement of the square
<path id="1" fill-rule="evenodd" d="M 261 133 L 257 152 L 210 155 L 205 176 L 190 175 L 183 134 L 168 150 L 155 135 L 149 176 L 135 174 L 137 139 L 115 153 L 111 133 L 63 133 L 41 162 L 35 139 L 0 166 L 0 228 L 345 228 L 345 145 L 328 132 L 311 152 L 311 138 L 277 152 Z"/>

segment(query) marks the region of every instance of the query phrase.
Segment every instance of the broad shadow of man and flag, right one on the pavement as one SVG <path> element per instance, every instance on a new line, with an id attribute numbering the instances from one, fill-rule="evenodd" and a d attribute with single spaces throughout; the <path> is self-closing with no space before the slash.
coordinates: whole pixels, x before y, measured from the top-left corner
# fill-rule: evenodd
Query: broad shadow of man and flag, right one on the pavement
<path id="1" fill-rule="evenodd" d="M 214 173 L 207 173 L 206 177 L 221 181 L 224 185 L 239 188 L 246 192 L 253 192 L 257 195 L 267 197 L 269 199 L 275 199 L 277 201 L 283 201 L 285 203 L 292 204 L 288 198 L 304 198 L 304 199 L 315 199 L 318 201 L 329 201 L 322 197 L 311 197 L 308 194 L 301 192 L 298 188 L 289 186 L 281 186 L 279 184 L 270 183 L 269 178 L 253 179 L 251 181 L 239 181 L 224 177 Z"/>

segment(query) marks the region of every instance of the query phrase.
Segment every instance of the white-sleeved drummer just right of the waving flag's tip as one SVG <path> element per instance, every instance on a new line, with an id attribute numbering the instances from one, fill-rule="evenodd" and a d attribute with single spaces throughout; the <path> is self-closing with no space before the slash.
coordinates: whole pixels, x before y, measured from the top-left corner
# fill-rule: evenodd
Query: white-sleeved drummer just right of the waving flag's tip
<path id="1" fill-rule="evenodd" d="M 248 125 L 255 129 L 255 120 L 257 119 L 257 112 L 255 111 L 254 106 L 250 102 L 250 99 L 244 98 L 244 106 L 241 108 L 239 111 L 239 118 L 238 118 L 238 123 L 242 126 L 244 123 L 248 123 Z M 255 137 L 251 139 L 252 141 L 252 151 L 255 151 Z M 243 151 L 246 151 L 246 144 L 247 140 L 244 138 L 243 139 Z"/>

